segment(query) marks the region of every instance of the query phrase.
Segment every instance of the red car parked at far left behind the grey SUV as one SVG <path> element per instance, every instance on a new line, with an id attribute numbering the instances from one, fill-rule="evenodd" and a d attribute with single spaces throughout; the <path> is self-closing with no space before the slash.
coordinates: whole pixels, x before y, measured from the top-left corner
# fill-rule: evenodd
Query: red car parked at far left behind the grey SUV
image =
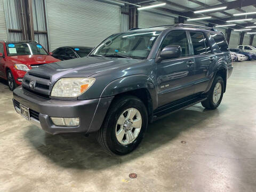
<path id="1" fill-rule="evenodd" d="M 0 77 L 7 80 L 11 91 L 21 85 L 22 78 L 32 68 L 57 62 L 36 42 L 0 42 Z"/>

